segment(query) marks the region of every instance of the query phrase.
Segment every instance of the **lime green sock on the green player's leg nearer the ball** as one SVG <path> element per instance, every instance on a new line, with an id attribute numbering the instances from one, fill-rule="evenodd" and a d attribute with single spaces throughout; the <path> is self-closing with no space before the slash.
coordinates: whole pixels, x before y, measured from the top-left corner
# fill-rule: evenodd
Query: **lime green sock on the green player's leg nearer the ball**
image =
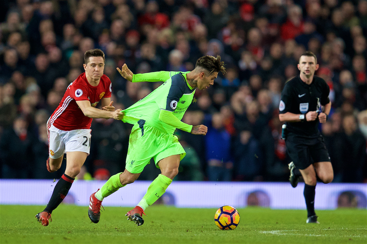
<path id="1" fill-rule="evenodd" d="M 138 206 L 145 210 L 148 206 L 152 205 L 166 192 L 167 187 L 171 184 L 172 180 L 163 174 L 159 174 L 157 178 L 149 185 L 148 191 L 143 196 L 143 199 L 138 203 Z"/>

